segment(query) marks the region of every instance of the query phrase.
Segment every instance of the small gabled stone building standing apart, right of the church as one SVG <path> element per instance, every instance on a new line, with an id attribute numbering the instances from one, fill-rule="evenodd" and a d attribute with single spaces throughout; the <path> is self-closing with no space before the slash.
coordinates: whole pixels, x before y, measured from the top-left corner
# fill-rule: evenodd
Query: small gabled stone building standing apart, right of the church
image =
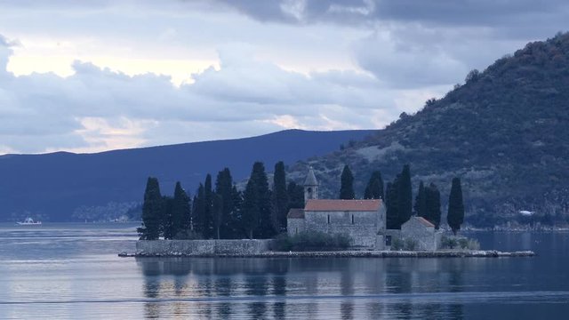
<path id="1" fill-rule="evenodd" d="M 435 225 L 422 217 L 413 216 L 401 225 L 401 237 L 413 239 L 417 251 L 437 251 L 442 233 L 435 230 Z"/>

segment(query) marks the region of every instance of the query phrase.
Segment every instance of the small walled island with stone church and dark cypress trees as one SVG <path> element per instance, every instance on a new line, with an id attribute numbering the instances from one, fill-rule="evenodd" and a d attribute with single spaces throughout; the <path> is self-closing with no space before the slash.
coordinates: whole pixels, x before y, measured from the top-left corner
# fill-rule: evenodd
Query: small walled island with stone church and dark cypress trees
<path id="1" fill-rule="evenodd" d="M 143 227 L 138 229 L 140 240 L 136 252 L 122 252 L 119 256 L 464 258 L 535 255 L 534 252 L 482 251 L 476 239 L 457 236 L 464 219 L 459 178 L 453 179 L 449 196 L 447 223 L 452 234 L 445 235 L 439 228 L 440 193 L 436 186 L 431 184 L 425 188 L 421 182 L 412 205 L 408 164 L 396 180 L 388 183 L 385 202 L 381 172 L 373 172 L 365 198 L 355 199 L 348 165 L 341 173 L 340 199 L 319 197 L 319 184 L 312 167 L 302 187 L 291 182 L 287 188 L 282 162 L 276 164 L 272 190 L 268 189 L 261 163 L 253 165 L 243 195 L 233 185 L 227 168 L 218 174 L 215 185 L 216 190 L 212 191 L 208 175 L 190 207 L 189 197 L 180 182 L 170 198 L 160 195 L 156 178 L 148 178 Z M 301 202 L 303 206 L 299 207 Z M 246 235 L 248 239 L 228 237 L 231 231 L 239 235 L 236 219 L 241 236 Z"/>

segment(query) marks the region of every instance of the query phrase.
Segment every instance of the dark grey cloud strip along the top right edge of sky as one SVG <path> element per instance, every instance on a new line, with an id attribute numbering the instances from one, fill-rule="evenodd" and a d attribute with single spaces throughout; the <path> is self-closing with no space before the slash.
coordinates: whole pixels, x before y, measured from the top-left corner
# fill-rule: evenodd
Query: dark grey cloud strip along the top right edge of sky
<path id="1" fill-rule="evenodd" d="M 396 21 L 492 28 L 512 24 L 521 26 L 528 19 L 548 22 L 552 17 L 566 17 L 569 10 L 569 4 L 563 0 L 279 0 L 263 1 L 262 5 L 255 5 L 259 2 L 252 0 L 218 0 L 218 3 L 261 21 L 295 24 Z M 550 26 L 550 23 L 533 25 L 532 28 L 545 26 Z"/>

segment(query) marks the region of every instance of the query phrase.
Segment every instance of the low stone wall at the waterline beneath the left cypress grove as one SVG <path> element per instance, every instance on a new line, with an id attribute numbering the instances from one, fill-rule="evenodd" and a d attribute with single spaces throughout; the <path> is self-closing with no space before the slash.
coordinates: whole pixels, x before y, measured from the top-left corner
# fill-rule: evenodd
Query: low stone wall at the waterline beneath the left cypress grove
<path id="1" fill-rule="evenodd" d="M 145 255 L 252 255 L 271 250 L 272 240 L 139 240 L 136 252 Z"/>

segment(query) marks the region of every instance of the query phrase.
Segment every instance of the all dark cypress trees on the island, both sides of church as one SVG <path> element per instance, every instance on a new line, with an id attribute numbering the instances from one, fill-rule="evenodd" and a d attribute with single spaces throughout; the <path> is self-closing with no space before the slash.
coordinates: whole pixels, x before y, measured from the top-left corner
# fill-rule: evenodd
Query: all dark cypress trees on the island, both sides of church
<path id="1" fill-rule="evenodd" d="M 304 207 L 304 188 L 294 181 L 287 183 L 282 161 L 275 164 L 272 182 L 270 189 L 264 164 L 256 162 L 244 190 L 240 191 L 229 169 L 224 168 L 218 172 L 215 183 L 211 174 L 207 174 L 190 199 L 180 182 L 176 182 L 173 196 L 163 196 L 158 180 L 149 177 L 142 204 L 142 227 L 137 229 L 140 239 L 265 239 L 284 233 L 289 210 Z M 384 200 L 387 228 L 401 228 L 413 213 L 439 228 L 440 192 L 434 183 L 425 187 L 420 182 L 413 205 L 411 172 L 405 164 L 395 180 L 388 182 L 385 190 L 383 187 L 381 172 L 372 172 L 364 198 Z M 348 165 L 341 172 L 339 198 L 356 198 L 354 176 Z M 463 220 L 461 180 L 454 178 L 447 222 L 455 234 Z"/>

